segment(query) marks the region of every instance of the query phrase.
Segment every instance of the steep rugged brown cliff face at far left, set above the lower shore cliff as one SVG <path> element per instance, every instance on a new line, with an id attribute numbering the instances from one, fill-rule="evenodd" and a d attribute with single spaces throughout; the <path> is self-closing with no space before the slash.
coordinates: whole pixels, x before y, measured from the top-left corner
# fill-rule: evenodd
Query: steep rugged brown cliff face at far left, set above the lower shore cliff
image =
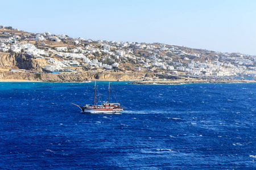
<path id="1" fill-rule="evenodd" d="M 2 69 L 41 70 L 47 64 L 45 59 L 35 59 L 22 53 L 0 53 Z"/>

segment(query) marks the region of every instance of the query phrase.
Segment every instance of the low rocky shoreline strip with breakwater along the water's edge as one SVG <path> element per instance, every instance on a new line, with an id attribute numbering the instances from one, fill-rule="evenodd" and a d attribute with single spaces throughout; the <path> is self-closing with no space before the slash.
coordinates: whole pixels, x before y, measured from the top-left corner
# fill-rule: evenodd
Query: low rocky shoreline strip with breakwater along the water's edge
<path id="1" fill-rule="evenodd" d="M 129 84 L 185 84 L 185 83 L 247 83 L 255 82 L 254 80 L 141 80 L 144 73 L 99 73 L 86 71 L 80 74 L 46 74 L 46 73 L 27 73 L 24 71 L 0 71 L 0 82 L 88 82 L 90 80 L 102 81 L 131 81 Z"/>

